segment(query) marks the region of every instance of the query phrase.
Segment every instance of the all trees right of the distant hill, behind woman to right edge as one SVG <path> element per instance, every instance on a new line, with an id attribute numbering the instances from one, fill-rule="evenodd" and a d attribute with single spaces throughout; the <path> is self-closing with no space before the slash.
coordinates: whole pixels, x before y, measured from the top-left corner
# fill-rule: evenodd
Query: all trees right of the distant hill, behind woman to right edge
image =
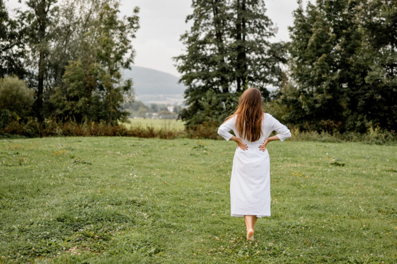
<path id="1" fill-rule="evenodd" d="M 269 43 L 276 29 L 261 0 L 194 0 L 193 25 L 175 57 L 188 125 L 221 123 L 247 87 L 265 110 L 302 130 L 395 130 L 397 5 L 388 0 L 301 0 L 291 41 Z M 269 88 L 277 88 L 270 93 Z"/>

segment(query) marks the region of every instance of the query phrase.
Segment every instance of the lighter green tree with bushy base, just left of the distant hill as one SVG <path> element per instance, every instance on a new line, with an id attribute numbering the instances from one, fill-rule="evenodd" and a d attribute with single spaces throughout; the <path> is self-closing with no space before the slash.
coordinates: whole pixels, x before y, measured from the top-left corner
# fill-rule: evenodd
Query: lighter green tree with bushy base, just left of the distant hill
<path id="1" fill-rule="evenodd" d="M 138 29 L 139 9 L 119 19 L 118 2 L 102 3 L 81 37 L 79 58 L 65 66 L 63 82 L 50 95 L 50 108 L 59 120 L 78 123 L 101 120 L 114 125 L 128 112 L 121 106 L 132 88 L 122 80 L 121 69 L 129 68 L 134 51 L 131 39 Z"/>

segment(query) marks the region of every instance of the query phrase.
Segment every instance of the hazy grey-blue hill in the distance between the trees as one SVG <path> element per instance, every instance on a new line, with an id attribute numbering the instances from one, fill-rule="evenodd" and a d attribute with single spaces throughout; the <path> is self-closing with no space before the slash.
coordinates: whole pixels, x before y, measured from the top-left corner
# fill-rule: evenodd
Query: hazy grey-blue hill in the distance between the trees
<path id="1" fill-rule="evenodd" d="M 182 96 L 186 87 L 178 83 L 178 77 L 138 66 L 124 72 L 126 78 L 132 78 L 134 91 L 138 97 L 142 95 L 178 95 Z"/>

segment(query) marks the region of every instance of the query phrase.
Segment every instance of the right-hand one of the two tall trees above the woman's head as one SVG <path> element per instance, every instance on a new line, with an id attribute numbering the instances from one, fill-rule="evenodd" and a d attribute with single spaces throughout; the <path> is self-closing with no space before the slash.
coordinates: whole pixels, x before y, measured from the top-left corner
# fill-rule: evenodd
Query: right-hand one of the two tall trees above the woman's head
<path id="1" fill-rule="evenodd" d="M 231 34 L 235 36 L 230 48 L 236 54 L 231 57 L 236 91 L 249 84 L 260 89 L 267 99 L 266 86 L 278 87 L 281 83 L 280 64 L 287 61 L 284 44 L 269 42 L 277 28 L 266 16 L 264 1 L 233 0 L 230 5 L 234 22 Z"/>

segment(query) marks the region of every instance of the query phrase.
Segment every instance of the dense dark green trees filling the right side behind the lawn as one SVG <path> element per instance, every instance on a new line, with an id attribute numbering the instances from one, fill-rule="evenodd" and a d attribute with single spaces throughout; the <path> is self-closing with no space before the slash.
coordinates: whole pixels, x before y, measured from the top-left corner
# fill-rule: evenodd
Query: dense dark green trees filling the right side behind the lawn
<path id="1" fill-rule="evenodd" d="M 305 12 L 299 5 L 290 27 L 291 80 L 278 94 L 289 107 L 283 118 L 301 129 L 395 129 L 396 6 L 319 0 Z"/>

